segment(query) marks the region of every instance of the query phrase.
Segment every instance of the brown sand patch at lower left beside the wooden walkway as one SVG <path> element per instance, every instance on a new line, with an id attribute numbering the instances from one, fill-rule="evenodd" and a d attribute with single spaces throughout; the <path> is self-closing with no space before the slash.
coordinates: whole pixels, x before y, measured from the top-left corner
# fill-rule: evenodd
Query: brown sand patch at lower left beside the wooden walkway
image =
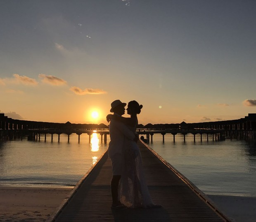
<path id="1" fill-rule="evenodd" d="M 55 212 L 71 189 L 0 187 L 0 221 L 45 221 Z"/>

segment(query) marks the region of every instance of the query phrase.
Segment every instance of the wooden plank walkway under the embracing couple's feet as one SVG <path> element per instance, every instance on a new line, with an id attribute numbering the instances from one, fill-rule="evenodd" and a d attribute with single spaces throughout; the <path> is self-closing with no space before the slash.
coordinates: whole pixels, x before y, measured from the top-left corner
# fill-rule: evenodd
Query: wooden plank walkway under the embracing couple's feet
<path id="1" fill-rule="evenodd" d="M 105 153 L 49 218 L 54 222 L 230 221 L 208 197 L 145 143 L 138 141 L 154 203 L 162 208 L 111 209 L 111 161 Z"/>

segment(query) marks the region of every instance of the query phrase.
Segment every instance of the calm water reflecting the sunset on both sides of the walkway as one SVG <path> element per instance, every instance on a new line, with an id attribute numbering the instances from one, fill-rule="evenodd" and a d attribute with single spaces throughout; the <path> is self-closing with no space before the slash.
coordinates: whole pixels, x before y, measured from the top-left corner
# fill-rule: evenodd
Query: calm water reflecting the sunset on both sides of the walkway
<path id="1" fill-rule="evenodd" d="M 43 140 L 42 140 L 43 139 Z M 109 142 L 109 137 L 107 138 Z M 107 151 L 107 144 L 93 134 L 91 143 L 88 135 L 57 135 L 51 142 L 5 141 L 0 142 L 0 185 L 1 186 L 74 186 L 91 166 Z M 187 134 L 154 134 L 149 146 L 165 160 L 183 173 L 206 194 L 222 194 L 256 197 L 256 147 L 245 141 L 193 141 Z"/>

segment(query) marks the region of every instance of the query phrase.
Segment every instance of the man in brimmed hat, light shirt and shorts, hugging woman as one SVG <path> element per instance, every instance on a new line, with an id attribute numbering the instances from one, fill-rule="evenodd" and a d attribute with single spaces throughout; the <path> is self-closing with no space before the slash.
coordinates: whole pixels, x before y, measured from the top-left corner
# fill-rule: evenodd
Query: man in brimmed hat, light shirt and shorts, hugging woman
<path id="1" fill-rule="evenodd" d="M 122 103 L 119 99 L 111 103 L 110 112 L 114 115 L 122 116 L 125 113 L 126 103 Z M 108 154 L 112 162 L 113 176 L 111 179 L 111 194 L 112 194 L 112 208 L 123 209 L 123 206 L 118 199 L 118 186 L 122 172 L 122 149 L 124 136 L 128 139 L 135 139 L 135 135 L 123 123 L 112 119 L 109 123 L 109 149 Z"/>

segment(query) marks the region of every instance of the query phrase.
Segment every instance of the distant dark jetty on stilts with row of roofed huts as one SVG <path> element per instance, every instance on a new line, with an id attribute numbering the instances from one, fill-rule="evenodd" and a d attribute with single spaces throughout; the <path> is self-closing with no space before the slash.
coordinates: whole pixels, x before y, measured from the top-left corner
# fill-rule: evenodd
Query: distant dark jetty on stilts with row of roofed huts
<path id="1" fill-rule="evenodd" d="M 75 124 L 70 123 L 49 123 L 49 122 L 38 122 L 29 120 L 15 120 L 8 118 L 4 113 L 0 113 L 0 139 L 15 139 L 23 138 L 28 136 L 31 140 L 40 140 L 40 134 L 67 134 L 72 133 L 78 134 L 78 141 L 80 140 L 80 135 L 87 133 L 90 135 L 94 130 L 101 134 L 101 140 L 104 143 L 107 142 L 107 134 L 109 134 L 109 127 L 105 124 Z M 245 139 L 250 141 L 256 141 L 256 113 L 249 113 L 248 116 L 240 118 L 237 120 L 223 120 L 215 122 L 201 122 L 201 123 L 175 123 L 175 124 L 139 124 L 137 128 L 137 133 L 145 135 L 144 141 L 149 142 L 151 136 L 151 141 L 153 140 L 153 135 L 160 133 L 164 135 L 167 133 L 173 134 L 173 141 L 175 142 L 175 135 L 180 133 L 184 136 L 188 133 L 194 135 L 196 134 L 212 134 L 213 140 L 221 140 L 225 137 L 230 139 Z M 59 136 L 58 136 L 59 138 Z M 59 139 L 58 139 L 59 140 Z M 202 139 L 201 139 L 202 140 Z"/>

